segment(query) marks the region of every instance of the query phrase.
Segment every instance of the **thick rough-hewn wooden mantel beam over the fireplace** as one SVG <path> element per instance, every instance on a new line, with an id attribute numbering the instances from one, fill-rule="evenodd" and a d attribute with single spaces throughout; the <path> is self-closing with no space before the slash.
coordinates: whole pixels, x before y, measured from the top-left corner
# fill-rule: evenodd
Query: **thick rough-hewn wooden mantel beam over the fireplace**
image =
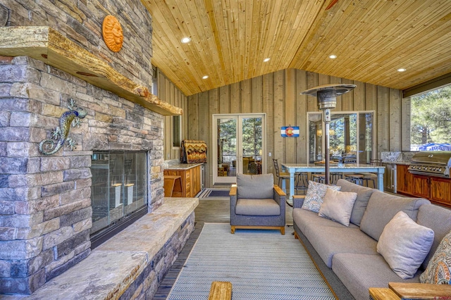
<path id="1" fill-rule="evenodd" d="M 183 113 L 51 27 L 0 27 L 0 55 L 30 56 L 161 115 Z"/>

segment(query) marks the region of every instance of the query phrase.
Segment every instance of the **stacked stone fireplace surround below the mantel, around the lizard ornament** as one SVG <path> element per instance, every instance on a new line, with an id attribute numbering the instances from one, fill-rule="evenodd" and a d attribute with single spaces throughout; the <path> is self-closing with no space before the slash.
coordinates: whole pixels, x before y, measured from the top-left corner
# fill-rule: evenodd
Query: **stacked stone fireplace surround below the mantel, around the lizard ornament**
<path id="1" fill-rule="evenodd" d="M 0 58 L 0 293 L 30 294 L 90 252 L 92 150 L 147 150 L 149 211 L 161 204 L 163 116 L 27 56 Z M 68 98 L 88 112 L 71 129 L 77 149 L 44 156 Z"/>

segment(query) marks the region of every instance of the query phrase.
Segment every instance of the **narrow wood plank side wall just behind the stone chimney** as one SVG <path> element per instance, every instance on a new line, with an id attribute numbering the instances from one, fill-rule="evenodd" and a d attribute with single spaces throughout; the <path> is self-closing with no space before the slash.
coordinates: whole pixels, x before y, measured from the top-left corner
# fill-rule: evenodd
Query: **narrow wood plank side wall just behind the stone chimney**
<path id="1" fill-rule="evenodd" d="M 188 109 L 187 109 L 187 96 L 180 91 L 171 80 L 161 73 L 158 69 L 156 70 L 156 78 L 157 78 L 157 96 L 159 99 L 172 104 L 173 106 L 177 106 L 183 109 L 182 115 L 182 139 L 187 138 L 188 131 Z M 178 159 L 180 158 L 180 147 L 174 148 L 172 146 L 172 116 L 164 117 L 163 121 L 163 156 L 164 160 L 169 159 Z"/>

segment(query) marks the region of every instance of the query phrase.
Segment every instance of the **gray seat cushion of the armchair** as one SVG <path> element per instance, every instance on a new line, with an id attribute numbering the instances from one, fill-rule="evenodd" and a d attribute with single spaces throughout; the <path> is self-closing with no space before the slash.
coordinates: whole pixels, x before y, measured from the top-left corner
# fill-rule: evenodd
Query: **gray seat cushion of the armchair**
<path id="1" fill-rule="evenodd" d="M 280 215 L 280 206 L 274 199 L 238 199 L 237 215 Z"/>

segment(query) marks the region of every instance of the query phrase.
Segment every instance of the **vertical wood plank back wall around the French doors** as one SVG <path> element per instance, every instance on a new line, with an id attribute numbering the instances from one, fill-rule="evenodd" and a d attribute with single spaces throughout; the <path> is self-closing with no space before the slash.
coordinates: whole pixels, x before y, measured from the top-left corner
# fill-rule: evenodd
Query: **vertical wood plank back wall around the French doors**
<path id="1" fill-rule="evenodd" d="M 271 158 L 287 163 L 307 162 L 307 111 L 318 111 L 318 108 L 314 97 L 299 93 L 329 83 L 357 85 L 352 92 L 338 97 L 334 111 L 375 111 L 378 156 L 381 151 L 408 150 L 409 101 L 402 99 L 400 90 L 304 70 L 280 70 L 188 96 L 187 111 L 184 108 L 189 126 L 187 139 L 201 139 L 209 145 L 205 186 L 213 185 L 213 114 L 266 113 L 266 151 L 272 154 L 272 157 L 266 155 L 266 172 L 273 173 Z M 280 137 L 280 127 L 287 125 L 299 126 L 299 137 Z"/>

